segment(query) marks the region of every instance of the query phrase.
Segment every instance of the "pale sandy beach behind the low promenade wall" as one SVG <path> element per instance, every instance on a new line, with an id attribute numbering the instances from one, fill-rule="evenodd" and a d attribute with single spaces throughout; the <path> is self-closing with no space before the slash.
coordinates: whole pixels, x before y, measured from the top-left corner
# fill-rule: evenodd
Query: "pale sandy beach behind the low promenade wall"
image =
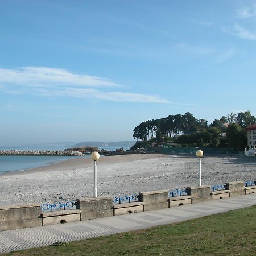
<path id="1" fill-rule="evenodd" d="M 256 158 L 204 156 L 202 184 L 255 180 Z M 133 195 L 138 192 L 197 185 L 196 156 L 138 154 L 102 156 L 97 161 L 98 196 Z M 72 159 L 47 167 L 11 172 L 0 177 L 0 205 L 43 203 L 91 197 L 93 162 Z"/>

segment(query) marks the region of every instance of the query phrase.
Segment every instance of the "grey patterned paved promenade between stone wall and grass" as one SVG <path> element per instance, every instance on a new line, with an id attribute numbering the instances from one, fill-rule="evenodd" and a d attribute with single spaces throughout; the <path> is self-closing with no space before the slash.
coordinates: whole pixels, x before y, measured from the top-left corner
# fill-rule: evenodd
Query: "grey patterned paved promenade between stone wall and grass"
<path id="1" fill-rule="evenodd" d="M 0 232 L 0 253 L 170 224 L 256 204 L 256 194 L 150 212 Z"/>

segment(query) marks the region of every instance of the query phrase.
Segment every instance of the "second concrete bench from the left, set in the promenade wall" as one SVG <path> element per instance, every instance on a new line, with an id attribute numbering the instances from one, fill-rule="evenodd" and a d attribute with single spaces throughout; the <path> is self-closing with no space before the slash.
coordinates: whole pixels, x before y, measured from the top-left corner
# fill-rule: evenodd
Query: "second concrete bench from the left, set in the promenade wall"
<path id="1" fill-rule="evenodd" d="M 143 202 L 122 203 L 113 205 L 113 216 L 143 212 Z"/>

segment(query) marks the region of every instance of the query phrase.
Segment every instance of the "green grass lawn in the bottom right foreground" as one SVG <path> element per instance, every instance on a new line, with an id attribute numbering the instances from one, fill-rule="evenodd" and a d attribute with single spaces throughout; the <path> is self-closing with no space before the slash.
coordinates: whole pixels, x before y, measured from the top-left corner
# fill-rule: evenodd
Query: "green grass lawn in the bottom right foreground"
<path id="1" fill-rule="evenodd" d="M 256 255 L 256 207 L 5 255 Z"/>

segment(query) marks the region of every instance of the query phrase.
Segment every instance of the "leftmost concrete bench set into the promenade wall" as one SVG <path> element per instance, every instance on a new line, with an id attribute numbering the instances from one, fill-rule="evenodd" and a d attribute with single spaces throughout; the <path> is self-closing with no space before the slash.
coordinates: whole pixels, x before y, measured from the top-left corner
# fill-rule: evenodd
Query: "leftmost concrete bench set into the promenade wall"
<path id="1" fill-rule="evenodd" d="M 81 210 L 55 210 L 41 214 L 42 226 L 80 221 Z"/>

